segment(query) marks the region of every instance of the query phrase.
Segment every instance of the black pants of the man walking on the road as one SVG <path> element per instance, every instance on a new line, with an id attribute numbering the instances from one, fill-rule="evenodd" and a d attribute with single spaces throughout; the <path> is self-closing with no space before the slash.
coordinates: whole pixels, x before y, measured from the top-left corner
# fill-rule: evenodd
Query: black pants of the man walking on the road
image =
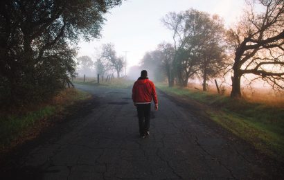
<path id="1" fill-rule="evenodd" d="M 151 104 L 136 104 L 136 107 L 139 119 L 139 132 L 143 136 L 145 132 L 149 131 Z"/>

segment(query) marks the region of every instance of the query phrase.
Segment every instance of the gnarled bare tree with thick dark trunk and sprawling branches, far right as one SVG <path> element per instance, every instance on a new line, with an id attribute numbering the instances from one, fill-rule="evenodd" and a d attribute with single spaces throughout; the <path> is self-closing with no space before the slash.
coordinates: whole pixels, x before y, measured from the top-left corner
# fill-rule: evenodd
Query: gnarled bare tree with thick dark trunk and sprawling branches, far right
<path id="1" fill-rule="evenodd" d="M 261 12 L 256 12 L 256 3 Z M 248 1 L 242 21 L 228 32 L 235 51 L 232 98 L 240 98 L 243 75 L 254 74 L 272 85 L 284 89 L 284 1 Z"/>

